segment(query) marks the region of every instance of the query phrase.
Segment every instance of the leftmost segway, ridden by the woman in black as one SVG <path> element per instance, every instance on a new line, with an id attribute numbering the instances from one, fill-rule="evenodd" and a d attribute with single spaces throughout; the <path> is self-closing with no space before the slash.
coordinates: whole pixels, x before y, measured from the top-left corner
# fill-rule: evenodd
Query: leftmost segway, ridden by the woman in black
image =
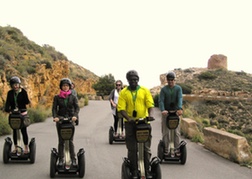
<path id="1" fill-rule="evenodd" d="M 29 161 L 30 163 L 35 162 L 36 156 L 36 143 L 35 138 L 31 138 L 29 142 L 29 152 L 24 153 L 24 149 L 22 148 L 21 142 L 21 128 L 24 126 L 23 117 L 21 116 L 21 112 L 18 109 L 15 109 L 9 115 L 9 125 L 12 129 L 15 129 L 17 134 L 17 150 L 15 152 L 11 151 L 12 148 L 12 140 L 10 137 L 5 138 L 4 147 L 3 147 L 3 162 L 5 164 L 9 163 L 10 160 L 13 161 Z"/>

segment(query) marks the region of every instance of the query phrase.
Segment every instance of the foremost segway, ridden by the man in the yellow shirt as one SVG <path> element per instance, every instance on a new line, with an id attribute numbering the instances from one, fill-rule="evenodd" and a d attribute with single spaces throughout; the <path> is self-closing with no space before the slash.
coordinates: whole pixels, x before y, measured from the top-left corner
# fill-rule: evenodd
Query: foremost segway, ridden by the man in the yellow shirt
<path id="1" fill-rule="evenodd" d="M 138 119 L 136 121 L 136 139 L 138 143 L 138 178 L 145 179 L 146 173 L 148 171 L 153 179 L 161 179 L 161 167 L 160 160 L 158 157 L 153 157 L 150 161 L 150 168 L 145 169 L 144 166 L 144 143 L 150 137 L 151 126 L 149 124 L 149 118 Z M 128 158 L 124 158 L 122 163 L 121 178 L 131 179 L 132 171 L 130 166 L 130 161 Z"/>

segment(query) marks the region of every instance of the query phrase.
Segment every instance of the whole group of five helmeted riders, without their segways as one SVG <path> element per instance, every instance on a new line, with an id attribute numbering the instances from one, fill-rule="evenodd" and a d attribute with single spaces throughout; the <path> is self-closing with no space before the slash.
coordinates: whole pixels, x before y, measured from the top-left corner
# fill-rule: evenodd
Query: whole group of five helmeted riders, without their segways
<path id="1" fill-rule="evenodd" d="M 125 137 L 125 143 L 127 148 L 127 156 L 131 164 L 132 178 L 137 179 L 137 141 L 136 141 L 136 120 L 139 118 L 149 118 L 154 120 L 153 108 L 154 100 L 150 93 L 150 90 L 144 86 L 138 84 L 139 75 L 135 70 L 130 70 L 126 73 L 126 79 L 128 86 L 123 87 L 121 80 L 115 82 L 115 89 L 113 89 L 109 96 L 109 102 L 111 104 L 112 114 L 114 118 L 114 136 L 118 136 L 118 121 L 119 118 L 123 118 L 122 130 L 120 135 Z M 176 110 L 178 116 L 182 116 L 182 89 L 179 85 L 175 84 L 176 74 L 173 71 L 169 71 L 166 75 L 167 85 L 161 88 L 159 94 L 159 108 L 162 114 L 161 126 L 162 126 L 162 140 L 165 144 L 165 153 L 169 153 L 169 129 L 166 127 L 165 119 L 169 115 L 168 111 Z M 19 77 L 14 76 L 10 79 L 11 89 L 8 91 L 6 104 L 4 111 L 11 113 L 13 110 L 20 110 L 21 115 L 26 116 L 27 105 L 30 104 L 28 94 L 24 88 L 21 87 L 21 80 Z M 59 162 L 58 165 L 63 165 L 64 158 L 64 140 L 59 137 L 59 123 L 61 116 L 71 117 L 72 121 L 78 120 L 78 114 L 80 111 L 78 105 L 78 99 L 76 91 L 73 90 L 74 84 L 69 78 L 62 78 L 59 83 L 60 92 L 54 96 L 52 104 L 52 117 L 53 122 L 56 123 L 56 129 L 58 131 L 58 151 Z M 24 152 L 29 152 L 28 147 L 28 134 L 27 127 L 21 128 Z M 180 131 L 179 127 L 175 132 L 175 147 L 179 145 Z M 15 129 L 13 129 L 14 149 L 13 153 L 17 151 L 17 136 Z M 144 165 L 148 168 L 150 165 L 151 157 L 151 140 L 150 135 L 144 147 Z M 180 151 L 176 151 L 176 155 L 180 155 Z M 70 139 L 70 156 L 73 165 L 77 165 L 76 154 L 74 150 L 73 137 Z M 148 171 L 146 172 L 146 178 L 152 178 Z"/>

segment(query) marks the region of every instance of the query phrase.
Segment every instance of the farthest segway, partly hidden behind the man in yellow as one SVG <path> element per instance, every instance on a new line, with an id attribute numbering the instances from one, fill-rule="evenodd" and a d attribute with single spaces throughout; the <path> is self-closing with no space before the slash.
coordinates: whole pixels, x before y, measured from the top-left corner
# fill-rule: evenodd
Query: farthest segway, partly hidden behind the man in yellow
<path id="1" fill-rule="evenodd" d="M 110 126 L 109 128 L 109 144 L 113 144 L 113 142 L 125 142 L 125 135 L 123 136 L 122 135 L 122 132 L 123 132 L 123 127 L 122 127 L 122 121 L 123 118 L 120 117 L 119 118 L 119 121 L 118 121 L 118 128 L 117 128 L 117 131 L 118 132 L 118 136 L 114 136 L 114 133 L 115 133 L 115 130 L 112 126 Z"/>

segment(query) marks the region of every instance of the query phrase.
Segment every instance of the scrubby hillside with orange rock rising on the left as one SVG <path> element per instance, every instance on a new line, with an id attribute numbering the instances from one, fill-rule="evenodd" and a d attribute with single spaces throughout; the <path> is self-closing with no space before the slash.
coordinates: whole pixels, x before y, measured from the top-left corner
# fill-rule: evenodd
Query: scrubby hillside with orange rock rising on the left
<path id="1" fill-rule="evenodd" d="M 9 90 L 9 79 L 19 76 L 33 106 L 49 107 L 59 91 L 59 80 L 69 77 L 80 95 L 95 95 L 98 76 L 73 63 L 50 45 L 39 46 L 14 27 L 0 26 L 0 108 Z"/>

